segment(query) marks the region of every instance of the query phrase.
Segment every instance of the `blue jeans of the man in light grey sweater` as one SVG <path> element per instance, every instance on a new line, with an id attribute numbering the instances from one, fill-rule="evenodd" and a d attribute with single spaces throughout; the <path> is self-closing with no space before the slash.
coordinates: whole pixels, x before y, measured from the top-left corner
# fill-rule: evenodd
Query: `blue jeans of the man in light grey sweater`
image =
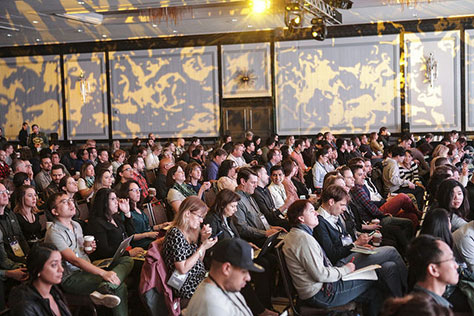
<path id="1" fill-rule="evenodd" d="M 304 305 L 328 308 L 345 305 L 356 301 L 364 305 L 364 315 L 376 316 L 382 307 L 385 297 L 377 286 L 377 281 L 371 280 L 339 280 L 325 283 L 313 297 L 304 300 Z"/>

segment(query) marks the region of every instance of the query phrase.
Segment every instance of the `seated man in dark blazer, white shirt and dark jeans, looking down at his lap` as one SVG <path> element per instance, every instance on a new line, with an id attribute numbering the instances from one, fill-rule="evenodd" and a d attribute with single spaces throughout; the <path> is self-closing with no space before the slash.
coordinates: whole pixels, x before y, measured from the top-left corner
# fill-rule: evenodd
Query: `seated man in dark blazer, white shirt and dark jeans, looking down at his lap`
<path id="1" fill-rule="evenodd" d="M 323 189 L 321 206 L 318 209 L 319 225 L 313 235 L 326 252 L 333 265 L 344 265 L 353 262 L 359 268 L 371 264 L 380 264 L 379 275 L 390 289 L 392 296 L 402 296 L 406 290 L 407 269 L 403 259 L 393 247 L 378 247 L 377 253 L 365 255 L 353 253 L 354 245 L 367 246 L 370 237 L 360 234 L 357 240 L 346 232 L 340 215 L 345 211 L 349 194 L 343 187 L 330 185 Z"/>

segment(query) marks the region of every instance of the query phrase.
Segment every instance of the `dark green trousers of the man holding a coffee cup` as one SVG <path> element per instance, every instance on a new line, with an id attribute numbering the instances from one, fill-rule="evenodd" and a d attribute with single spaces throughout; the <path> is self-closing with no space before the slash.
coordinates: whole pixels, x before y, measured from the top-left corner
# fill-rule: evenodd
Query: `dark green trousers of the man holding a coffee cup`
<path id="1" fill-rule="evenodd" d="M 89 295 L 99 287 L 107 287 L 111 289 L 115 295 L 120 297 L 120 304 L 112 309 L 112 313 L 115 316 L 127 316 L 128 315 L 128 303 L 127 303 L 127 285 L 125 285 L 125 278 L 128 276 L 133 268 L 133 259 L 124 256 L 119 258 L 118 263 L 111 269 L 117 274 L 120 279 L 120 285 L 115 285 L 110 282 L 104 281 L 102 277 L 85 272 L 76 271 L 68 276 L 61 283 L 61 287 L 66 293 Z"/>

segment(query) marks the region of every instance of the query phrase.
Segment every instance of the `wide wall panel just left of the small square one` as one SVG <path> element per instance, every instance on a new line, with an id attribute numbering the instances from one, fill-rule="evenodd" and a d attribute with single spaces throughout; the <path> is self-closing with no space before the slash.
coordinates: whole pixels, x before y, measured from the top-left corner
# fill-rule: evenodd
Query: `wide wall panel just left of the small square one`
<path id="1" fill-rule="evenodd" d="M 217 47 L 110 53 L 114 137 L 217 136 Z"/>

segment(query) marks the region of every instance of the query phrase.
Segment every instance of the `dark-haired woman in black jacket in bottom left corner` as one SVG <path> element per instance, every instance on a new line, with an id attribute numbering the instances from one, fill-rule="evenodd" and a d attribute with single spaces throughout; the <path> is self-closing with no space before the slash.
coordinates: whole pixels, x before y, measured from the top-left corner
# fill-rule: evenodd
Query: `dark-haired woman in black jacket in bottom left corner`
<path id="1" fill-rule="evenodd" d="M 10 293 L 12 315 L 72 315 L 57 286 L 64 272 L 58 248 L 48 244 L 33 247 L 26 266 L 30 275 L 28 282 Z"/>

